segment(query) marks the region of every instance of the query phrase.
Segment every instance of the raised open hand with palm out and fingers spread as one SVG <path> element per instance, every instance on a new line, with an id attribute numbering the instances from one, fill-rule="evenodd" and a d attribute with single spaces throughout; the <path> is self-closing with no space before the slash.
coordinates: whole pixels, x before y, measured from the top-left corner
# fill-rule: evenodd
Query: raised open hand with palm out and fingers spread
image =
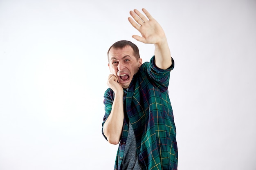
<path id="1" fill-rule="evenodd" d="M 160 24 L 146 9 L 142 9 L 142 11 L 147 18 L 137 9 L 130 11 L 130 15 L 134 20 L 130 17 L 128 20 L 141 33 L 141 36 L 132 35 L 132 38 L 146 44 L 162 44 L 162 42 L 166 42 L 166 36 Z"/>

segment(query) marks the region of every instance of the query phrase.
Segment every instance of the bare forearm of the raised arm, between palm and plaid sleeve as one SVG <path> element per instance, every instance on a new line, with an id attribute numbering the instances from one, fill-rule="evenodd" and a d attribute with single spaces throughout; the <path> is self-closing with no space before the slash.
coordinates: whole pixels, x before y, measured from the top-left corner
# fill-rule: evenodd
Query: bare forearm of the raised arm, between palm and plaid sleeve
<path id="1" fill-rule="evenodd" d="M 167 69 L 172 64 L 171 52 L 166 38 L 155 44 L 155 64 L 161 69 Z"/>

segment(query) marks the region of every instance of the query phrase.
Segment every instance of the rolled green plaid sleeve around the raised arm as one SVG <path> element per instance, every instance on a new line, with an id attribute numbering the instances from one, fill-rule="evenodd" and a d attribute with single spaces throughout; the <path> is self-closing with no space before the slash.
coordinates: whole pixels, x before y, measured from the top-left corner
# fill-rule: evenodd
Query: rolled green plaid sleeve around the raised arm
<path id="1" fill-rule="evenodd" d="M 160 89 L 160 91 L 166 91 L 169 85 L 170 72 L 174 68 L 174 60 L 172 58 L 172 65 L 166 70 L 158 68 L 155 65 L 155 56 L 150 59 L 148 63 L 148 75 L 153 85 Z"/>

